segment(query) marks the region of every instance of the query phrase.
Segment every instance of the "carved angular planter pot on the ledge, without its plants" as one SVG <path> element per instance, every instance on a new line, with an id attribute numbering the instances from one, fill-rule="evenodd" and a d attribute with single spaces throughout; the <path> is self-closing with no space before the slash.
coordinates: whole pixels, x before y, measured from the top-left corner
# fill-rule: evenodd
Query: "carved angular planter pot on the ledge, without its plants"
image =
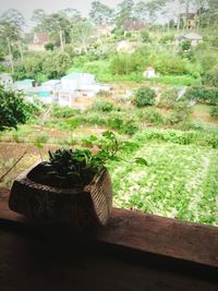
<path id="1" fill-rule="evenodd" d="M 43 223 L 71 225 L 80 230 L 106 225 L 112 207 L 112 186 L 106 168 L 85 187 L 59 189 L 35 182 L 44 162 L 13 182 L 9 207 Z"/>

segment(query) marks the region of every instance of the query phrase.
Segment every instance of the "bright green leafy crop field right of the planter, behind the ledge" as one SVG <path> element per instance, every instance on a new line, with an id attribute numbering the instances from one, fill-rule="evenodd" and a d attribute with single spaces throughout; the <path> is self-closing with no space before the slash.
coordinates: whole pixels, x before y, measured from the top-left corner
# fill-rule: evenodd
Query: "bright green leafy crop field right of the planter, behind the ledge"
<path id="1" fill-rule="evenodd" d="M 217 150 L 137 141 L 140 148 L 123 157 L 140 153 L 148 160 L 147 168 L 124 162 L 109 167 L 116 207 L 216 226 Z"/>

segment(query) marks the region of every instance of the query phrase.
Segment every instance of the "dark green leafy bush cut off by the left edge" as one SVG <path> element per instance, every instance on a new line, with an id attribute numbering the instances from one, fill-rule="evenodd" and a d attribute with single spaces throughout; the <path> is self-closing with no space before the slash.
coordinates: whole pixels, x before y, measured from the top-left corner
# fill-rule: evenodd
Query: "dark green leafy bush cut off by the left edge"
<path id="1" fill-rule="evenodd" d="M 24 96 L 0 86 L 0 131 L 25 123 L 32 116 L 34 106 L 24 101 Z"/>

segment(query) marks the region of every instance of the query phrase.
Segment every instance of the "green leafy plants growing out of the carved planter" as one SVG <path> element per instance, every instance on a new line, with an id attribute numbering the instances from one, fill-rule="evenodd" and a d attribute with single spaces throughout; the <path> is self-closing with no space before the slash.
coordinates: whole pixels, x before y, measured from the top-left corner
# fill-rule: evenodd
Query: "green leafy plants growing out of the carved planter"
<path id="1" fill-rule="evenodd" d="M 86 144 L 93 145 L 98 138 L 94 135 L 86 140 Z M 102 138 L 98 141 L 99 150 L 93 154 L 86 148 L 57 149 L 49 151 L 47 173 L 55 178 L 59 186 L 84 186 L 90 182 L 108 161 L 118 160 L 119 142 L 112 132 L 104 132 Z M 136 162 L 146 165 L 143 158 L 136 158 Z"/>

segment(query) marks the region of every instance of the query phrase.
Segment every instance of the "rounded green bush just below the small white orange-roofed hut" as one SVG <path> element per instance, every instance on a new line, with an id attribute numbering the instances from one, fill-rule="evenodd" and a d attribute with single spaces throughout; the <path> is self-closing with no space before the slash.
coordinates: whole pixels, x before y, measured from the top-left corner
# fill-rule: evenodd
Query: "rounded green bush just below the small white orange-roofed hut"
<path id="1" fill-rule="evenodd" d="M 156 93 L 148 87 L 141 87 L 137 89 L 134 102 L 137 107 L 152 106 L 155 104 Z"/>

